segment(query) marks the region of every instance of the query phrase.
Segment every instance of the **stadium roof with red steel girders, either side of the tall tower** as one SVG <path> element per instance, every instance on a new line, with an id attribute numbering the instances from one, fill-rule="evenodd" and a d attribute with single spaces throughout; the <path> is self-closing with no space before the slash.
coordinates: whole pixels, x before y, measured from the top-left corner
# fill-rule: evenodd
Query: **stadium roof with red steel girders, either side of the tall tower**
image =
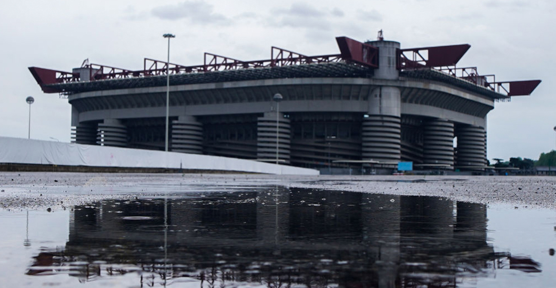
<path id="1" fill-rule="evenodd" d="M 378 68 L 376 47 L 346 37 L 337 37 L 336 41 L 341 54 L 306 56 L 272 47 L 272 59 L 241 61 L 205 53 L 203 65 L 187 67 L 170 63 L 170 85 L 277 78 L 373 77 L 374 69 Z M 396 68 L 402 72 L 400 76 L 403 77 L 447 82 L 494 99 L 529 95 L 540 83 L 540 80 L 489 82 L 489 78 L 494 79 L 494 75 L 479 75 L 476 67 L 456 68 L 456 63 L 469 47 L 468 44 L 462 44 L 398 49 Z M 428 58 L 421 55 L 422 51 L 426 51 Z M 361 55 L 365 53 L 371 56 Z M 29 70 L 45 93 L 80 93 L 164 86 L 166 65 L 165 62 L 145 58 L 143 70 L 89 63 L 83 63 L 81 68 L 73 69 L 71 73 L 38 67 L 29 67 Z M 88 73 L 83 73 L 84 70 L 88 70 Z M 86 74 L 88 79 L 83 79 L 82 74 Z"/>

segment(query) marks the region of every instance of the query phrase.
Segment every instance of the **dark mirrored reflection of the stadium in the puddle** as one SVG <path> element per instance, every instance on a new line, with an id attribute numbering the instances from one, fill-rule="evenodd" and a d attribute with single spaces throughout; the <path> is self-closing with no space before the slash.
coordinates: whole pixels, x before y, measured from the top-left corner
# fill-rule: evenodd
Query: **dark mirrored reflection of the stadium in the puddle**
<path id="1" fill-rule="evenodd" d="M 138 272 L 141 286 L 455 287 L 507 259 L 483 204 L 279 188 L 76 206 L 65 249 L 33 266 L 81 281 Z"/>

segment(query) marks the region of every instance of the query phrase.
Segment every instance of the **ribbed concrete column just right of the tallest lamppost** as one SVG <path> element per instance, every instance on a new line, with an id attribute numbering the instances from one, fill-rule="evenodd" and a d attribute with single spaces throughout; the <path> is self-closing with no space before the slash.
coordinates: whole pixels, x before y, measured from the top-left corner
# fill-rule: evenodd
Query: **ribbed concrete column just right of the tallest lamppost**
<path id="1" fill-rule="evenodd" d="M 171 151 L 203 153 L 203 127 L 194 116 L 180 116 L 172 121 Z"/>

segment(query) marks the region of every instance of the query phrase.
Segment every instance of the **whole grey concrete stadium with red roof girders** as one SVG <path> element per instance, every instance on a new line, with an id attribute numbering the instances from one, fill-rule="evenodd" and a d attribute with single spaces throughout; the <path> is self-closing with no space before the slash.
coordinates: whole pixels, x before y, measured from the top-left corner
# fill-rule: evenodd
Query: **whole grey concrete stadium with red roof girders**
<path id="1" fill-rule="evenodd" d="M 272 47 L 265 60 L 205 53 L 196 66 L 146 58 L 142 70 L 29 70 L 43 92 L 67 97 L 75 143 L 165 150 L 169 79 L 168 150 L 323 172 L 391 172 L 401 161 L 480 173 L 486 115 L 540 83 L 457 67 L 468 44 L 401 49 L 381 33 L 336 42 L 339 54 Z"/>

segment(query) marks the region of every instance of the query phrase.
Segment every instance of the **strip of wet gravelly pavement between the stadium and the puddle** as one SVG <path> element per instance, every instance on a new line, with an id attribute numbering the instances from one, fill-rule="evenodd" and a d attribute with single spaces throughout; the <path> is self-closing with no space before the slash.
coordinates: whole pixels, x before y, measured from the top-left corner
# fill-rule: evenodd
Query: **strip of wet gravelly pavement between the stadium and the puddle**
<path id="1" fill-rule="evenodd" d="M 253 174 L 0 174 L 0 209 L 66 209 L 102 199 L 289 188 L 439 196 L 516 208 L 556 209 L 553 176 L 292 176 Z"/>

